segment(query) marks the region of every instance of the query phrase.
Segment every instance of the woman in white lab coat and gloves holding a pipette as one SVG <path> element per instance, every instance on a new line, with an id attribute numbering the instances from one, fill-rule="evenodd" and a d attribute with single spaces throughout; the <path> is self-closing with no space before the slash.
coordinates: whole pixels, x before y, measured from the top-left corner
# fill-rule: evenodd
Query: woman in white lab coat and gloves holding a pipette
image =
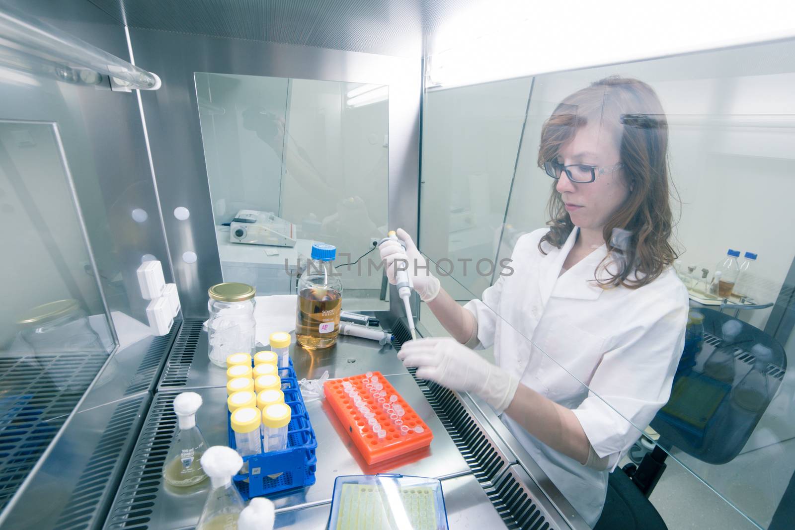
<path id="1" fill-rule="evenodd" d="M 457 304 L 405 230 L 405 250 L 380 247 L 390 281 L 405 260 L 452 335 L 407 342 L 403 364 L 483 397 L 591 527 L 607 473 L 668 400 L 684 346 L 667 145 L 646 83 L 611 77 L 564 99 L 538 153 L 555 179 L 548 226 L 518 239 L 483 300 Z M 496 366 L 471 350 L 492 345 Z"/>

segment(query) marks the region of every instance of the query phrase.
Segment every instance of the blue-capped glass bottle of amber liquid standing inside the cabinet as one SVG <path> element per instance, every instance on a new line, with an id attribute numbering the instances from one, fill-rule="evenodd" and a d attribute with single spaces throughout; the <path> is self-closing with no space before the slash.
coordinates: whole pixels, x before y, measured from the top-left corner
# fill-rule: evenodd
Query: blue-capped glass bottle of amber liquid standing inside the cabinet
<path id="1" fill-rule="evenodd" d="M 309 350 L 328 348 L 337 342 L 343 282 L 332 267 L 336 248 L 312 245 L 312 259 L 298 282 L 296 339 Z"/>

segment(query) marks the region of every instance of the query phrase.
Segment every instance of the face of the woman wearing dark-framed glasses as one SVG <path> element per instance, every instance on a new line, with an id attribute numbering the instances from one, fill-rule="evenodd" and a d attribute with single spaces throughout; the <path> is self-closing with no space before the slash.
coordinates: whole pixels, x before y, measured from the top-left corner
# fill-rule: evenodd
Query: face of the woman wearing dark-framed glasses
<path id="1" fill-rule="evenodd" d="M 580 127 L 570 141 L 560 146 L 560 164 L 584 164 L 609 168 L 621 161 L 617 135 L 599 130 L 599 123 Z M 588 184 L 572 182 L 565 174 L 557 181 L 572 223 L 582 230 L 602 230 L 602 227 L 626 200 L 630 189 L 624 182 L 621 169 L 599 174 Z"/>

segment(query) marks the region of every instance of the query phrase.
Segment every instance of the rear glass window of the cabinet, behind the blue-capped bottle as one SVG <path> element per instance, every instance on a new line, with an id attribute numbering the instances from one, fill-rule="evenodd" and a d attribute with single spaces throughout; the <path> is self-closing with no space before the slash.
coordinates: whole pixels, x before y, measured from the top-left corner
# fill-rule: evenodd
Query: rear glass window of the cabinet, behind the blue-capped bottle
<path id="1" fill-rule="evenodd" d="M 346 300 L 377 300 L 382 270 L 347 265 L 388 230 L 389 88 L 195 77 L 224 280 L 295 293 L 300 262 L 324 242 L 337 248 Z"/>

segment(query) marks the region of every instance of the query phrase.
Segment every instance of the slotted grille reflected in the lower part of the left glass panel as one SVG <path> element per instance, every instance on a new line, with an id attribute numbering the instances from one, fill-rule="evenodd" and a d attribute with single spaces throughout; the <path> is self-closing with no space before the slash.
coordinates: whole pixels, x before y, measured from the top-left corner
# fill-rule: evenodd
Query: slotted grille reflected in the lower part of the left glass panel
<path id="1" fill-rule="evenodd" d="M 101 352 L 0 359 L 0 510 L 106 359 Z"/>

